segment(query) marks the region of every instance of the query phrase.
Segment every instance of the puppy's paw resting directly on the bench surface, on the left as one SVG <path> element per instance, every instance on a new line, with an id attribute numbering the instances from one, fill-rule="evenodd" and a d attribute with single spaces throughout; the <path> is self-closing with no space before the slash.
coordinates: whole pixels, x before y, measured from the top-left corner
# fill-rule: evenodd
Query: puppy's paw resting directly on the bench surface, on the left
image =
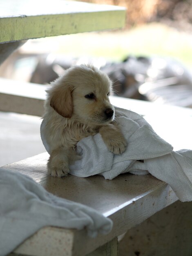
<path id="1" fill-rule="evenodd" d="M 48 162 L 47 167 L 48 167 L 48 174 L 53 177 L 67 176 L 67 174 L 69 173 L 69 167 L 65 163 L 53 165 L 53 164 L 49 164 Z"/>

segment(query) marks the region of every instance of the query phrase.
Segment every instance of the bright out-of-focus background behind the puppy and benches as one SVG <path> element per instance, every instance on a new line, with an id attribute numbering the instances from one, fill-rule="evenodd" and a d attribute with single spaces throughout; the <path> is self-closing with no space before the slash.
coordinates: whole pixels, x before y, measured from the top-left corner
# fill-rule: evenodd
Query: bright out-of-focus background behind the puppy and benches
<path id="1" fill-rule="evenodd" d="M 125 28 L 28 40 L 0 65 L 0 77 L 45 85 L 71 65 L 92 63 L 109 75 L 116 96 L 192 108 L 192 0 L 87 2 L 126 7 Z M 9 152 L 0 166 L 45 151 L 40 117 L 2 112 L 0 122 Z"/>

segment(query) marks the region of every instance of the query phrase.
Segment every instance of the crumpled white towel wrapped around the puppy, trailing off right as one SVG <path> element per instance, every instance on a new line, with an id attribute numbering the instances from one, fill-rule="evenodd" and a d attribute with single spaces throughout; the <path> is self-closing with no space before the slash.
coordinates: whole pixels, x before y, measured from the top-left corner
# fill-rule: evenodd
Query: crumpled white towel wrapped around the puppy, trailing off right
<path id="1" fill-rule="evenodd" d="M 77 144 L 81 159 L 70 166 L 70 174 L 88 177 L 100 174 L 112 180 L 121 173 L 151 173 L 170 184 L 181 201 L 192 200 L 192 150 L 174 152 L 173 147 L 159 137 L 147 121 L 135 112 L 115 108 L 117 121 L 127 140 L 122 155 L 109 152 L 100 134 L 83 138 Z M 45 120 L 41 124 L 42 142 L 49 152 L 43 136 Z M 144 160 L 138 162 L 137 160 Z"/>

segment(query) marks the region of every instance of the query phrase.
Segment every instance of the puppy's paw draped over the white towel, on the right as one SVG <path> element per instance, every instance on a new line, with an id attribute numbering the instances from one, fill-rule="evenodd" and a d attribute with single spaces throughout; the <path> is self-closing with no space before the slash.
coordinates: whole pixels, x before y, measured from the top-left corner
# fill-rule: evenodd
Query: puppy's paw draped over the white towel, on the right
<path id="1" fill-rule="evenodd" d="M 124 138 L 112 138 L 109 139 L 105 142 L 107 148 L 109 149 L 109 151 L 111 151 L 112 153 L 116 154 L 116 155 L 120 155 L 122 154 L 126 147 L 127 147 L 127 143 L 125 141 Z"/>

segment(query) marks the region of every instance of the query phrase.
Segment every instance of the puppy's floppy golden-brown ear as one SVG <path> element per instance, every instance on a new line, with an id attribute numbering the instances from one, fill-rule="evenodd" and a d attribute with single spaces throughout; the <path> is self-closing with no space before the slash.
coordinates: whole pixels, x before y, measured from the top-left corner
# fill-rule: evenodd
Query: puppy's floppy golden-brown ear
<path id="1" fill-rule="evenodd" d="M 56 88 L 52 93 L 50 106 L 59 115 L 71 118 L 73 114 L 72 90 L 67 85 Z"/>

